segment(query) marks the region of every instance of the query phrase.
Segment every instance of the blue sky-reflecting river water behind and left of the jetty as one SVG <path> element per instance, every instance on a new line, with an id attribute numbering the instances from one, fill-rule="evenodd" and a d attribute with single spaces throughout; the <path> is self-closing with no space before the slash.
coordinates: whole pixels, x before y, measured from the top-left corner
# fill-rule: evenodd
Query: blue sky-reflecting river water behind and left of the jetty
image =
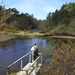
<path id="1" fill-rule="evenodd" d="M 6 75 L 6 67 L 8 65 L 26 53 L 30 52 L 33 43 L 36 43 L 37 46 L 46 46 L 47 42 L 47 39 L 43 38 L 17 39 L 7 41 L 3 47 L 0 47 L 0 75 Z M 27 62 L 28 59 L 26 58 L 24 64 Z M 19 65 L 15 65 L 11 68 L 11 70 L 20 70 L 20 67 Z"/>

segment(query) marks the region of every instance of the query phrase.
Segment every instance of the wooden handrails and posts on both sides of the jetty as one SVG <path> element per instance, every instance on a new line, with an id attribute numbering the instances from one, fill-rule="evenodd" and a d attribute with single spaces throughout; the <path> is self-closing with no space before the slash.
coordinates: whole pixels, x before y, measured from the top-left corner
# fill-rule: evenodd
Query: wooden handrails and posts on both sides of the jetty
<path id="1" fill-rule="evenodd" d="M 29 63 L 31 63 L 32 62 L 32 60 L 33 60 L 33 56 L 32 56 L 32 52 L 29 52 L 29 53 L 27 53 L 27 54 L 25 54 L 24 56 L 22 56 L 21 58 L 19 58 L 18 60 L 16 60 L 15 62 L 13 62 L 12 64 L 10 64 L 8 67 L 7 67 L 7 75 L 9 75 L 9 69 L 14 65 L 14 64 L 16 64 L 16 63 L 18 63 L 19 61 L 21 62 L 21 64 L 20 64 L 20 69 L 21 69 L 21 71 L 23 71 L 23 59 L 26 57 L 26 56 L 28 56 L 29 55 Z M 37 59 L 34 61 L 34 62 L 32 62 L 32 65 L 28 68 L 28 69 L 26 69 L 25 71 L 26 71 L 26 75 L 28 74 L 28 70 L 40 59 L 40 63 L 41 63 L 41 66 L 42 66 L 42 53 L 38 53 L 38 57 L 37 57 Z M 38 63 L 38 62 L 37 62 Z M 37 67 L 37 65 L 35 66 L 35 69 L 36 69 L 36 67 Z"/>

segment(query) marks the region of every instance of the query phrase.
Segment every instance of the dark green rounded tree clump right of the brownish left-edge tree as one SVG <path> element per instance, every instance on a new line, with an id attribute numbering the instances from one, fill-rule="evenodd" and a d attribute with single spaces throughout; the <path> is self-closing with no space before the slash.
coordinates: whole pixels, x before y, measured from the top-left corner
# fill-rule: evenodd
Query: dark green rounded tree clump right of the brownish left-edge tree
<path id="1" fill-rule="evenodd" d="M 7 20 L 7 23 L 9 25 L 13 23 L 13 28 L 16 28 L 16 29 L 21 29 L 21 30 L 33 29 L 33 28 L 36 28 L 35 26 L 36 24 L 35 22 L 33 22 L 33 19 L 34 18 L 28 13 L 12 14 L 11 18 Z"/>

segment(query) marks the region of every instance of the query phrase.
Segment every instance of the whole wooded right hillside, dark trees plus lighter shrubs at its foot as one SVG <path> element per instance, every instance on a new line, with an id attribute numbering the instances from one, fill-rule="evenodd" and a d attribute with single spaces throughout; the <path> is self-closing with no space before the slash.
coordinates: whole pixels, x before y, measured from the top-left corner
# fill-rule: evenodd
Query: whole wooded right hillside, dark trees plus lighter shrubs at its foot
<path id="1" fill-rule="evenodd" d="M 65 4 L 60 10 L 49 13 L 46 22 L 50 35 L 75 36 L 75 3 Z"/>

